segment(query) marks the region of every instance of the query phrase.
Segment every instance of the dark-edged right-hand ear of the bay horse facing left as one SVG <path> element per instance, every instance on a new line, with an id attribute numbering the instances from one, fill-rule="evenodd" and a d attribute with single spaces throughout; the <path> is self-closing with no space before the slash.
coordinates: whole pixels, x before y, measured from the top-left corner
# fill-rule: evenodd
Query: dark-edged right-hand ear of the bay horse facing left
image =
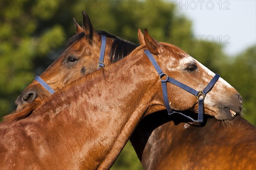
<path id="1" fill-rule="evenodd" d="M 101 37 L 97 33 L 97 31 L 93 28 L 93 25 L 90 22 L 90 18 L 88 17 L 88 15 L 84 11 L 82 11 L 82 14 L 83 14 L 82 27 L 83 27 L 86 38 L 88 38 L 90 41 L 93 41 L 93 39 L 100 40 Z"/>

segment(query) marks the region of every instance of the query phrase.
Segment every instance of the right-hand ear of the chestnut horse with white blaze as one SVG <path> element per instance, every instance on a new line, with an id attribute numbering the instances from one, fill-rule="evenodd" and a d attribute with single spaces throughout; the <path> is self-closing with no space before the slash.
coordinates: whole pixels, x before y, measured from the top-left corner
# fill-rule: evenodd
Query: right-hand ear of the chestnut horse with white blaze
<path id="1" fill-rule="evenodd" d="M 161 45 L 154 38 L 150 37 L 147 29 L 145 29 L 145 31 L 144 31 L 144 40 L 145 40 L 145 44 L 147 45 L 148 50 L 151 51 L 152 53 L 161 54 L 163 52 L 163 45 Z"/>

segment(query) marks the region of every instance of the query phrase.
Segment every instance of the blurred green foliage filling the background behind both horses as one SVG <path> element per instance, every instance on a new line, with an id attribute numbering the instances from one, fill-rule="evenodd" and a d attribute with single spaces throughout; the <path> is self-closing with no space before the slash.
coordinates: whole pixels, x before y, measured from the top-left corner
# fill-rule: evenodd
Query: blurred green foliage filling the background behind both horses
<path id="1" fill-rule="evenodd" d="M 245 118 L 256 125 L 255 45 L 230 57 L 224 54 L 221 43 L 193 40 L 191 21 L 168 1 L 0 2 L 0 117 L 15 110 L 17 96 L 61 54 L 64 42 L 75 34 L 72 18 L 81 23 L 84 10 L 97 30 L 138 43 L 138 28 L 147 28 L 155 39 L 186 51 L 239 91 Z M 130 143 L 112 169 L 142 169 Z"/>

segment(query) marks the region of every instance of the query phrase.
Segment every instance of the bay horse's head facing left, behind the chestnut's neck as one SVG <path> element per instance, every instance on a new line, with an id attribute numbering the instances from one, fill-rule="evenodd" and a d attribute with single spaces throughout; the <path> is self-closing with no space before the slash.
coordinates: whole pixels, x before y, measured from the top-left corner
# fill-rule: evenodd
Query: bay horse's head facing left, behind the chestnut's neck
<path id="1" fill-rule="evenodd" d="M 40 76 L 54 91 L 97 69 L 102 42 L 101 35 L 95 31 L 87 14 L 84 11 L 82 14 L 82 27 L 73 19 L 76 35 L 70 38 L 67 42 L 67 49 Z M 110 53 L 113 53 L 111 51 L 113 42 L 112 37 L 106 38 L 105 56 L 110 56 Z M 106 57 L 104 62 L 108 64 L 109 57 Z M 34 80 L 16 99 L 15 103 L 18 108 L 23 108 L 38 96 L 49 95 L 51 94 Z"/>

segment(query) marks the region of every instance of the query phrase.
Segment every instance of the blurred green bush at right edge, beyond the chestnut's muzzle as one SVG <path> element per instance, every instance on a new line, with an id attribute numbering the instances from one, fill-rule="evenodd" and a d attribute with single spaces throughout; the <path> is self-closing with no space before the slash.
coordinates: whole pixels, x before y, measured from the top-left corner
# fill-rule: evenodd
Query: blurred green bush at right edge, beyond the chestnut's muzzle
<path id="1" fill-rule="evenodd" d="M 224 66 L 224 79 L 239 91 L 243 98 L 244 118 L 256 126 L 256 45 L 229 59 Z"/>

